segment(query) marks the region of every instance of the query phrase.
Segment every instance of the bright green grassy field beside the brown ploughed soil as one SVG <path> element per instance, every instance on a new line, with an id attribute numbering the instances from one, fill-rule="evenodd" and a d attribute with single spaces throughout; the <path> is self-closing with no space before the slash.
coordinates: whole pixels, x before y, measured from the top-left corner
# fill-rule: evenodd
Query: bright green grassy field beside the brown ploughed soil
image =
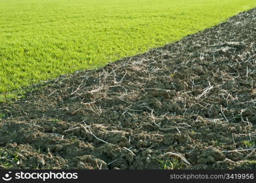
<path id="1" fill-rule="evenodd" d="M 255 0 L 0 0 L 0 93 L 211 27 Z"/>

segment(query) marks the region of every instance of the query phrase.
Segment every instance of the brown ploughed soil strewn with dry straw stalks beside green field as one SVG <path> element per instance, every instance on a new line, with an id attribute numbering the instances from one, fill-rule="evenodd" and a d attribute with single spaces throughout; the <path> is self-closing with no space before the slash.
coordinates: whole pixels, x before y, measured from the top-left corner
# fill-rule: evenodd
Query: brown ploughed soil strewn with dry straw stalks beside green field
<path id="1" fill-rule="evenodd" d="M 0 168 L 255 169 L 256 9 L 0 104 Z"/>

